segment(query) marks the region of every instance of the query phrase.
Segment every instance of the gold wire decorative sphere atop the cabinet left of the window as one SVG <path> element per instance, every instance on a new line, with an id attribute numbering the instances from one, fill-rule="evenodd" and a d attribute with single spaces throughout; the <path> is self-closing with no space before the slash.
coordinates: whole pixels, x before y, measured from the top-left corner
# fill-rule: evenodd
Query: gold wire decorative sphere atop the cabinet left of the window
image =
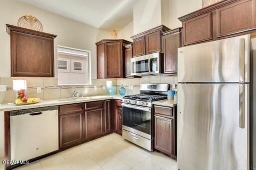
<path id="1" fill-rule="evenodd" d="M 33 29 L 36 31 L 42 31 L 41 22 L 38 19 L 36 19 L 36 17 L 34 17 L 32 15 L 21 16 L 18 19 L 18 26 L 27 28 L 27 29 Z"/>

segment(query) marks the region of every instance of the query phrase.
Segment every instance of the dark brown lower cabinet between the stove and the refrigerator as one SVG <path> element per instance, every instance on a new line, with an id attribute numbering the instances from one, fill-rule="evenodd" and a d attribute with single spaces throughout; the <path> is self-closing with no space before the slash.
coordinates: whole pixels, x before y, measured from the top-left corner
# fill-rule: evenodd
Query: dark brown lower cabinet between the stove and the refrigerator
<path id="1" fill-rule="evenodd" d="M 176 160 L 176 107 L 154 106 L 153 129 L 154 149 Z"/>

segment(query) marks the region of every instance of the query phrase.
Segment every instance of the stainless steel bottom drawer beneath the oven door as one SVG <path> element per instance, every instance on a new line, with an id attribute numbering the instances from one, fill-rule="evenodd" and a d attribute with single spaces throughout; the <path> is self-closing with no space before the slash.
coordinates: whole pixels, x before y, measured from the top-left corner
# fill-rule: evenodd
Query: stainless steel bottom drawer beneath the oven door
<path id="1" fill-rule="evenodd" d="M 129 131 L 126 131 L 124 129 L 122 129 L 122 138 L 127 140 L 127 141 L 130 141 L 132 142 L 133 144 L 136 144 L 148 151 L 153 151 L 152 149 L 152 140 L 149 140 L 149 139 L 146 139 L 146 138 L 143 138 L 139 135 L 136 135 L 136 134 L 133 134 Z"/>

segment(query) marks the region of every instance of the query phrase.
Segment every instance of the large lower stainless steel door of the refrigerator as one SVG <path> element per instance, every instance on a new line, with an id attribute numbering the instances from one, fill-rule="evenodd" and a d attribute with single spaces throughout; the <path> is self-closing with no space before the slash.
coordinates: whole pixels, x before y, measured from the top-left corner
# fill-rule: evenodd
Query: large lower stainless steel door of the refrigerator
<path id="1" fill-rule="evenodd" d="M 249 85 L 244 85 L 243 95 L 239 84 L 178 84 L 177 88 L 178 169 L 249 170 Z"/>

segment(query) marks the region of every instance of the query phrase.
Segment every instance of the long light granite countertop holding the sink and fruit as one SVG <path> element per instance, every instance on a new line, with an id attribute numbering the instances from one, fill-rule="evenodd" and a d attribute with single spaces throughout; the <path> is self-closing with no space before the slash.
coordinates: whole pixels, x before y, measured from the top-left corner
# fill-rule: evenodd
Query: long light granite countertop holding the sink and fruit
<path id="1" fill-rule="evenodd" d="M 122 100 L 123 96 L 88 96 L 89 99 L 77 99 L 77 100 L 45 100 L 40 103 L 31 104 L 31 105 L 21 105 L 16 106 L 15 104 L 0 104 L 0 111 L 13 111 L 13 110 L 22 110 L 22 109 L 32 109 L 38 107 L 48 107 L 48 106 L 58 106 L 58 105 L 66 105 L 73 103 L 83 103 L 83 102 L 93 102 L 98 100 L 108 100 L 108 99 L 117 99 Z"/>

